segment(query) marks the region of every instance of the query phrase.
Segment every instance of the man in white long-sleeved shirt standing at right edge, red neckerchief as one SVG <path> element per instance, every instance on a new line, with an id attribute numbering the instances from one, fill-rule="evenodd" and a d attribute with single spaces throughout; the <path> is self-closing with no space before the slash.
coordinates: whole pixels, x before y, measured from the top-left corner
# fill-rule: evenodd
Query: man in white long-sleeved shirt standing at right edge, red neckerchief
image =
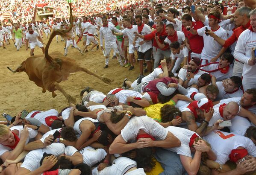
<path id="1" fill-rule="evenodd" d="M 250 12 L 250 26 L 238 38 L 234 57 L 244 63 L 243 81 L 244 90 L 256 87 L 256 9 Z"/>

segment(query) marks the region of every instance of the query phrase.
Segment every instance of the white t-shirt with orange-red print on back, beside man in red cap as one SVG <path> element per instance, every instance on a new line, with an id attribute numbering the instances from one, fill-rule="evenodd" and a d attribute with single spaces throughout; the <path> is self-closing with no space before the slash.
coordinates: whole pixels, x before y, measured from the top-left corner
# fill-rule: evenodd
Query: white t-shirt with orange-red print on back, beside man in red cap
<path id="1" fill-rule="evenodd" d="M 212 151 L 217 156 L 215 160 L 217 163 L 226 163 L 230 159 L 232 149 L 237 149 L 239 146 L 247 149 L 248 155 L 256 157 L 256 146 L 247 137 L 216 130 L 204 136 L 203 139 L 211 144 Z"/>

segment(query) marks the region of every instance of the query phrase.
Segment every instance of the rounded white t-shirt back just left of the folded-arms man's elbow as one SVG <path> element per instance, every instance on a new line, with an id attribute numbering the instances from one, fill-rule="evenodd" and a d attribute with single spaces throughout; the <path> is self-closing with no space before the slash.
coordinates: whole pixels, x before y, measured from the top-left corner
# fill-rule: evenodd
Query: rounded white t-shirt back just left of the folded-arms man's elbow
<path id="1" fill-rule="evenodd" d="M 83 163 L 90 167 L 103 160 L 107 155 L 104 149 L 94 149 L 91 146 L 87 146 L 79 152 L 82 155 Z"/>

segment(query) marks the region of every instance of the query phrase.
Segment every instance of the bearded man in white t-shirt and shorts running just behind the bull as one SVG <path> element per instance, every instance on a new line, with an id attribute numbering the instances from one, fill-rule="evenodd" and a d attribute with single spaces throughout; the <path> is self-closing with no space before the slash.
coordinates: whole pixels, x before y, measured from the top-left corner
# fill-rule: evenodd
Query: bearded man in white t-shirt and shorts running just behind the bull
<path id="1" fill-rule="evenodd" d="M 34 55 L 34 49 L 35 46 L 38 46 L 39 48 L 41 48 L 41 50 L 43 51 L 44 54 L 44 41 L 42 40 L 42 38 L 39 36 L 39 34 L 37 32 L 35 32 L 32 27 L 28 27 L 28 33 L 26 33 L 26 51 L 29 50 L 28 48 L 28 44 L 30 47 L 30 56 Z M 39 40 L 39 41 L 38 41 Z"/>

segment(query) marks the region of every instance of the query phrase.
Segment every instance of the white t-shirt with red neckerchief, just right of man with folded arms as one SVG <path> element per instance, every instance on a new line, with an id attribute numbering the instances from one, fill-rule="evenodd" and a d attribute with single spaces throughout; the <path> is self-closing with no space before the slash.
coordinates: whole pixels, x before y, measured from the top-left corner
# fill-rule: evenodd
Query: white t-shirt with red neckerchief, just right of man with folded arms
<path id="1" fill-rule="evenodd" d="M 181 145 L 179 147 L 167 148 L 167 149 L 172 152 L 176 152 L 178 155 L 185 155 L 187 157 L 191 157 L 189 142 L 190 142 L 191 136 L 197 133 L 185 128 L 179 128 L 175 126 L 168 126 L 165 129 L 167 131 L 170 131 L 172 134 L 174 134 L 174 136 L 176 136 L 181 142 Z M 200 137 L 198 134 L 197 136 Z"/>

